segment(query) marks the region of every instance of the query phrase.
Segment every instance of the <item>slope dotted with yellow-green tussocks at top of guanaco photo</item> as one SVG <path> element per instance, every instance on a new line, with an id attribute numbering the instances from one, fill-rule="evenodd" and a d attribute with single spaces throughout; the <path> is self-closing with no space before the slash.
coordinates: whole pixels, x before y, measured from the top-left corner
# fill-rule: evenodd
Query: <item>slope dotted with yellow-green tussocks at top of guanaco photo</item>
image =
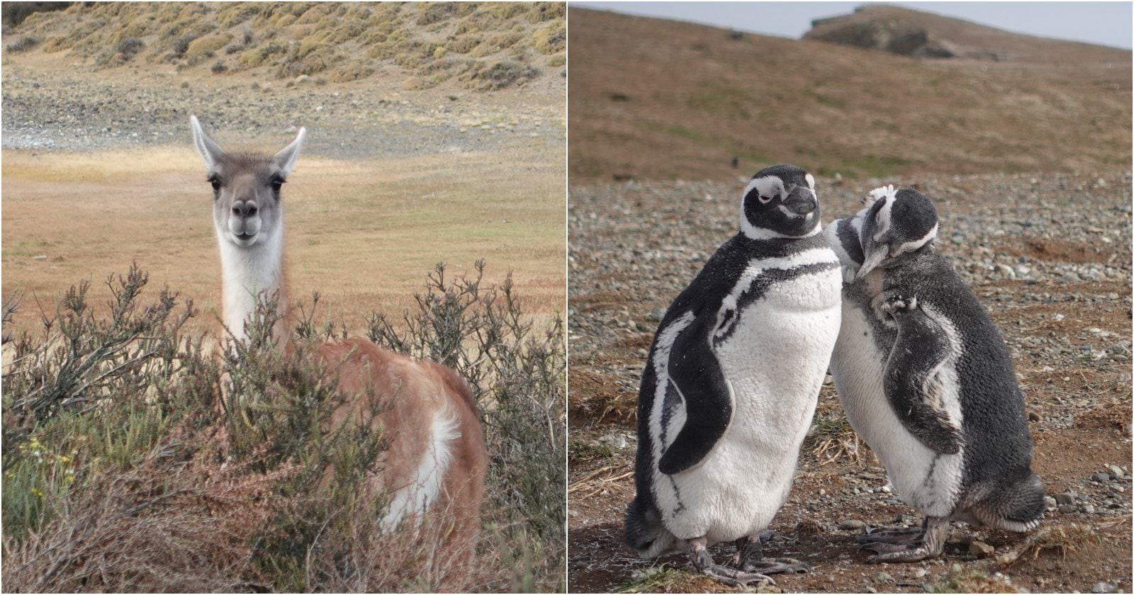
<path id="1" fill-rule="evenodd" d="M 12 43 L 99 67 L 142 61 L 330 82 L 386 74 L 408 77 L 411 88 L 456 78 L 486 91 L 566 62 L 565 11 L 562 2 L 76 2 L 28 16 Z"/>

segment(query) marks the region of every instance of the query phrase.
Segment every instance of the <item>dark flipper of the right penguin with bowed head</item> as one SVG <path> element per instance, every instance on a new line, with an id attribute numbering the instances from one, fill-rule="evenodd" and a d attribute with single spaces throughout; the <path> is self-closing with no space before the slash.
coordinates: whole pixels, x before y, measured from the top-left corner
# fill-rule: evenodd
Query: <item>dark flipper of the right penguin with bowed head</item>
<path id="1" fill-rule="evenodd" d="M 916 298 L 890 297 L 881 307 L 894 316 L 898 337 L 886 362 L 882 388 L 902 425 L 934 452 L 960 452 L 963 434 L 941 407 L 938 369 L 953 350 L 940 324 L 917 307 Z"/>

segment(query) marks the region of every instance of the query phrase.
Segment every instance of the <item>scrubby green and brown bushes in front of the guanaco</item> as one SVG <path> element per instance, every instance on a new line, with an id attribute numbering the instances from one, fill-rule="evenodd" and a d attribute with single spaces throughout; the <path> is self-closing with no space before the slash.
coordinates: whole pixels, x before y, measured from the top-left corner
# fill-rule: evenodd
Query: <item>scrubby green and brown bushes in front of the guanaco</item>
<path id="1" fill-rule="evenodd" d="M 329 423 L 356 396 L 310 357 L 347 333 L 318 321 L 318 295 L 293 352 L 272 347 L 265 304 L 247 342 L 213 354 L 185 330 L 193 303 L 146 298 L 147 282 L 137 266 L 108 279 L 98 311 L 74 286 L 37 332 L 9 332 L 23 313 L 5 300 L 6 590 L 564 588 L 562 326 L 533 332 L 509 281 L 438 265 L 404 329 L 367 317 L 474 388 L 491 458 L 475 552 L 448 545 L 443 510 L 378 530 L 388 498 L 366 478 L 386 441 L 365 419 Z"/>

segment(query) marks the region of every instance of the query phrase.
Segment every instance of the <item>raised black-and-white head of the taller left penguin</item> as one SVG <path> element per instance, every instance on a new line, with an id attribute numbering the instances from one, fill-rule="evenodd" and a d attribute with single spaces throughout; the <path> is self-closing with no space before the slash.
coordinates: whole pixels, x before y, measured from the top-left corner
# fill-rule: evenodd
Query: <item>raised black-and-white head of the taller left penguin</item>
<path id="1" fill-rule="evenodd" d="M 816 233 L 815 178 L 787 163 L 758 171 L 744 189 L 741 231 L 752 239 L 803 238 Z"/>

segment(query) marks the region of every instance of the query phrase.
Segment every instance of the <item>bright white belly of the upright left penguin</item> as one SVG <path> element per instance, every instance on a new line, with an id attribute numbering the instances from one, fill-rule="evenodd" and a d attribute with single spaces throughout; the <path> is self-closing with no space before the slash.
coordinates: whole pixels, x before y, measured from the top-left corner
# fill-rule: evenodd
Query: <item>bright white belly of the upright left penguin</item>
<path id="1" fill-rule="evenodd" d="M 838 337 L 840 284 L 838 270 L 777 283 L 717 348 L 735 398 L 731 424 L 701 465 L 655 477 L 663 515 L 678 510 L 666 515 L 678 538 L 753 535 L 787 500 Z M 669 508 L 670 499 L 685 505 Z"/>

